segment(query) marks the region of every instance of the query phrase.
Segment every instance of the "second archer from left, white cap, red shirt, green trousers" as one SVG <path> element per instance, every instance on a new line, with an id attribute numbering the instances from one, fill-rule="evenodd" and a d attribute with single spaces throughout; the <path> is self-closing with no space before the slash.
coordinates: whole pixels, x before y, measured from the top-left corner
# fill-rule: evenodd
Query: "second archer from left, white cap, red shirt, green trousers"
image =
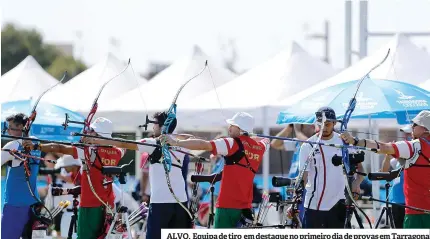
<path id="1" fill-rule="evenodd" d="M 91 125 L 90 135 L 100 135 L 112 138 L 112 122 L 106 118 L 97 118 Z M 91 143 L 83 138 L 83 142 Z M 90 165 L 87 169 L 81 168 L 81 202 L 78 212 L 78 238 L 98 238 L 104 233 L 106 214 L 112 213 L 114 208 L 114 192 L 112 185 L 103 186 L 104 182 L 111 181 L 112 178 L 103 175 L 103 166 L 117 166 L 125 154 L 125 150 L 120 148 L 99 148 L 84 147 L 78 148 L 62 144 L 36 144 L 25 141 L 25 147 L 36 148 L 46 153 L 62 153 L 72 155 L 76 160 L 86 161 L 86 151 L 89 152 Z"/>

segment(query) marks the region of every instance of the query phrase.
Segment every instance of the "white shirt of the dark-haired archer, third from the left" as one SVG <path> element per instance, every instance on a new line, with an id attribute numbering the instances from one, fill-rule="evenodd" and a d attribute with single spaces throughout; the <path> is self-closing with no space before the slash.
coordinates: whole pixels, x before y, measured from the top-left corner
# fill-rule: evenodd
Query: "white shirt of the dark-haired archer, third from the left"
<path id="1" fill-rule="evenodd" d="M 140 142 L 148 143 L 148 144 L 157 144 L 157 140 L 154 138 L 145 138 Z M 155 150 L 153 146 L 146 145 L 137 145 L 139 148 L 139 152 L 147 152 L 152 154 Z M 183 151 L 187 151 L 186 149 L 182 149 Z M 173 152 L 173 154 L 172 154 Z M 178 160 L 176 160 L 176 158 Z M 174 167 L 173 164 L 181 166 L 184 162 L 185 154 L 170 151 L 170 157 L 172 159 L 172 167 L 169 172 L 170 177 L 170 185 L 175 193 L 176 197 L 180 202 L 186 202 L 187 194 L 185 192 L 185 180 L 182 176 L 182 170 L 178 167 Z M 149 183 L 151 184 L 151 203 L 177 203 L 172 193 L 170 192 L 167 186 L 166 174 L 164 171 L 164 166 L 162 163 L 150 164 L 149 165 Z"/>

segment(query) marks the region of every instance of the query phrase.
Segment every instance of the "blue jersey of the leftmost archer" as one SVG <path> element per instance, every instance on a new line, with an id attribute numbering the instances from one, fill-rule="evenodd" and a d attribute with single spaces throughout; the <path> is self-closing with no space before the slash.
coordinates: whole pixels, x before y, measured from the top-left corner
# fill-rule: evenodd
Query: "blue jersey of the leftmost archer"
<path id="1" fill-rule="evenodd" d="M 22 145 L 20 144 L 18 150 L 22 150 Z M 30 153 L 33 156 L 40 157 L 41 152 L 33 150 Z M 36 181 L 37 175 L 39 173 L 39 163 L 40 160 L 30 158 L 29 166 L 31 175 L 29 178 L 29 183 L 31 190 L 34 195 L 39 198 L 39 193 L 37 192 Z M 24 165 L 21 160 L 13 159 L 8 162 L 7 175 L 6 175 L 6 190 L 5 190 L 5 205 L 12 206 L 30 206 L 36 203 L 36 199 L 31 195 L 28 188 L 27 180 L 25 177 Z"/>

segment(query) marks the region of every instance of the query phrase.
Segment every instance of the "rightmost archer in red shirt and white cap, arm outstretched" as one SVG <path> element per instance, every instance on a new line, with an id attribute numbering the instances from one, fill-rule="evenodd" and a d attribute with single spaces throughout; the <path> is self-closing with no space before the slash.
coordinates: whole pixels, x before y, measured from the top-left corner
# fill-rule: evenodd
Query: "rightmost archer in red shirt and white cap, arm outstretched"
<path id="1" fill-rule="evenodd" d="M 342 139 L 355 146 L 379 149 L 379 154 L 392 155 L 404 167 L 406 206 L 427 210 L 426 212 L 406 208 L 403 228 L 430 228 L 430 111 L 421 111 L 412 120 L 410 141 L 382 143 L 376 140 L 359 139 L 342 133 Z"/>

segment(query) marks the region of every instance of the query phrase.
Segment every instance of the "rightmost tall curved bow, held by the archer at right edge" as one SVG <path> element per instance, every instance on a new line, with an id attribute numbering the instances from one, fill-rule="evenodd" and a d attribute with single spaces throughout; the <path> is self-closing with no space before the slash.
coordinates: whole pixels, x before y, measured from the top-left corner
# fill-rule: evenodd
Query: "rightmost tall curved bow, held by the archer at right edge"
<path id="1" fill-rule="evenodd" d="M 371 68 L 370 70 L 369 70 L 369 72 L 367 72 L 367 74 L 365 74 L 361 79 L 360 79 L 360 81 L 358 82 L 358 84 L 357 84 L 357 90 L 355 91 L 355 93 L 354 93 L 354 95 L 353 95 L 353 97 L 351 98 L 351 100 L 349 101 L 349 105 L 348 105 L 348 108 L 347 108 L 347 110 L 346 110 L 346 112 L 345 112 L 345 114 L 344 114 L 344 116 L 343 116 L 343 119 L 342 119 L 342 122 L 341 122 L 341 125 L 340 125 L 340 130 L 341 130 L 341 132 L 345 132 L 345 131 L 347 131 L 347 128 L 348 128 L 348 122 L 349 122 L 349 119 L 351 118 L 351 115 L 352 115 L 352 113 L 354 112 L 354 110 L 355 110 L 355 106 L 356 106 L 356 104 L 357 104 L 357 99 L 356 99 L 356 96 L 357 96 L 357 93 L 358 93 L 358 90 L 360 89 L 360 86 L 361 86 L 361 84 L 363 83 L 363 81 L 366 79 L 366 78 L 368 78 L 369 77 L 369 75 L 370 75 L 370 73 L 372 73 L 372 71 L 373 70 L 375 70 L 376 68 L 378 68 L 379 66 L 381 66 L 386 60 L 387 60 L 387 58 L 388 58 L 388 55 L 390 54 L 390 49 L 388 49 L 388 52 L 387 52 L 387 54 L 385 55 L 385 57 L 382 59 L 382 61 L 381 62 L 379 62 L 377 65 L 375 65 L 373 68 Z M 347 145 L 347 143 L 346 142 L 344 142 L 344 145 Z M 369 223 L 369 226 L 370 226 L 370 228 L 372 228 L 372 223 L 371 223 L 371 221 L 370 221 L 370 219 L 369 219 L 369 217 L 367 216 L 367 214 L 366 213 L 364 213 L 364 211 L 358 206 L 358 204 L 357 204 L 357 202 L 354 200 L 354 197 L 353 197 L 353 195 L 352 195 L 352 190 L 351 190 L 351 187 L 350 187 L 350 184 L 351 184 L 351 182 L 352 182 L 352 180 L 353 180 L 353 174 L 351 174 L 351 172 L 350 172 L 350 163 L 349 163 L 349 152 L 348 152 L 348 148 L 347 147 L 343 147 L 342 148 L 342 167 L 343 167 L 343 170 L 344 170 L 344 172 L 345 172 L 345 179 L 346 179 L 346 189 L 347 189 L 347 192 L 348 192 L 348 198 L 347 198 L 347 201 L 351 201 L 351 203 L 353 203 L 359 210 L 360 210 L 360 212 L 366 217 L 366 220 L 368 221 L 368 223 Z M 348 202 L 347 202 L 347 204 L 348 204 Z M 349 216 L 352 216 L 352 212 L 351 212 L 351 214 L 349 215 Z M 350 220 L 350 218 L 349 218 L 349 220 Z M 350 223 L 349 222 L 349 220 L 347 221 L 347 223 Z M 349 225 L 345 225 L 345 226 L 349 226 Z"/>

